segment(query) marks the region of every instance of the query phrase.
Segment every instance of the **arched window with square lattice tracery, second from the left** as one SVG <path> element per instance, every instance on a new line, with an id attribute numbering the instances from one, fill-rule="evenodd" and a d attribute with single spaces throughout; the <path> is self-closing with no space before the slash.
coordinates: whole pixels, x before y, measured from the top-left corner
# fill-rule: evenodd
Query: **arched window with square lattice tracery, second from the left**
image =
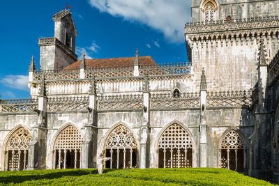
<path id="1" fill-rule="evenodd" d="M 69 125 L 61 131 L 54 144 L 56 169 L 80 168 L 82 142 L 82 134 L 73 125 Z"/>

